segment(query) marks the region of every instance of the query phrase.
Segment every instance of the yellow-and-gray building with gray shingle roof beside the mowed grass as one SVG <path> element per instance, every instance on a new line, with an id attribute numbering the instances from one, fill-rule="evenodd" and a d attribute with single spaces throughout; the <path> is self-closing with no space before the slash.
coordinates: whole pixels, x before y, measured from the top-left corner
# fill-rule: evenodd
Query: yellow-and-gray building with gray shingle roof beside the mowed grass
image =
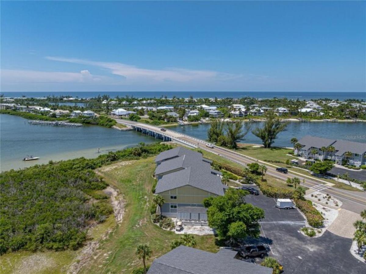
<path id="1" fill-rule="evenodd" d="M 222 196 L 226 186 L 220 171 L 211 169 L 211 161 L 199 152 L 177 147 L 155 158 L 155 194 L 164 197 L 161 214 L 181 220 L 207 221 L 203 199 Z"/>

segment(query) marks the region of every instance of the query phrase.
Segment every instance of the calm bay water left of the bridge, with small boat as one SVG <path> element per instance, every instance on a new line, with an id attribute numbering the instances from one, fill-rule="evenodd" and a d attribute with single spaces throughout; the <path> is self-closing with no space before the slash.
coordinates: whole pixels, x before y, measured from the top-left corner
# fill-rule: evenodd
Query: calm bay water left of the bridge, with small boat
<path id="1" fill-rule="evenodd" d="M 5 114 L 0 115 L 0 140 L 1 171 L 48 163 L 49 160 L 94 158 L 100 153 L 135 146 L 139 142 L 157 141 L 134 131 L 100 126 L 30 125 L 26 119 Z M 27 155 L 40 159 L 25 162 L 22 159 Z"/>

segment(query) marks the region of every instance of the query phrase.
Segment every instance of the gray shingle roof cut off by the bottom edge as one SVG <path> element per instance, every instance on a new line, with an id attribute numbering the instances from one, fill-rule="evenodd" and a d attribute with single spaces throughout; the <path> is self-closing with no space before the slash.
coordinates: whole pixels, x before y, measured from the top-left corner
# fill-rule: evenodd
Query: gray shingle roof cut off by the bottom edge
<path id="1" fill-rule="evenodd" d="M 272 269 L 234 259 L 234 253 L 211 253 L 181 245 L 152 263 L 148 274 L 272 274 Z"/>

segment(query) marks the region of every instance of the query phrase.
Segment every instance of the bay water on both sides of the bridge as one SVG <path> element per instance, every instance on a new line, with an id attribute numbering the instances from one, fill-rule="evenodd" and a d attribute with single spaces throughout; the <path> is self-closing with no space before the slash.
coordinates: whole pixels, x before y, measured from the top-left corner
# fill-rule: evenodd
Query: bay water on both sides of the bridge
<path id="1" fill-rule="evenodd" d="M 253 128 L 262 123 L 253 123 Z M 171 127 L 201 139 L 207 138 L 209 124 Z M 276 146 L 291 147 L 290 139 L 305 135 L 348 141 L 366 142 L 366 123 L 352 122 L 291 122 L 285 132 L 275 141 Z M 100 153 L 116 151 L 139 142 L 152 143 L 156 140 L 134 131 L 119 131 L 99 126 L 53 127 L 30 125 L 28 120 L 18 116 L 0 115 L 0 169 L 18 169 L 49 160 L 66 160 L 78 157 L 94 158 Z M 260 144 L 259 138 L 248 133 L 242 142 Z M 40 157 L 40 160 L 24 162 L 26 155 Z"/>

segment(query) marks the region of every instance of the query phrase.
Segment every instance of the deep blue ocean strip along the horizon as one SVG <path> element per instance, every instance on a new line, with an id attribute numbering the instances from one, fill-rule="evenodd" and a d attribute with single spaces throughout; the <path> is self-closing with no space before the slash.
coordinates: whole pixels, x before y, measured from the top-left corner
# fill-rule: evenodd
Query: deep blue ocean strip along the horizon
<path id="1" fill-rule="evenodd" d="M 288 99 L 299 99 L 299 100 L 311 100 L 311 99 L 320 99 L 320 98 L 329 98 L 329 99 L 359 99 L 366 100 L 366 92 L 228 92 L 228 91 L 216 91 L 216 92 L 1 92 L 5 97 L 46 97 L 46 96 L 71 96 L 71 97 L 79 97 L 79 98 L 90 98 L 96 97 L 98 95 L 109 95 L 111 98 L 115 98 L 116 96 L 124 97 L 126 95 L 133 96 L 135 98 L 159 98 L 162 96 L 167 96 L 168 98 L 172 98 L 173 96 L 180 98 L 188 98 L 193 96 L 194 98 L 242 98 L 242 97 L 255 97 L 261 99 L 270 99 L 273 97 L 277 98 L 288 98 Z"/>

